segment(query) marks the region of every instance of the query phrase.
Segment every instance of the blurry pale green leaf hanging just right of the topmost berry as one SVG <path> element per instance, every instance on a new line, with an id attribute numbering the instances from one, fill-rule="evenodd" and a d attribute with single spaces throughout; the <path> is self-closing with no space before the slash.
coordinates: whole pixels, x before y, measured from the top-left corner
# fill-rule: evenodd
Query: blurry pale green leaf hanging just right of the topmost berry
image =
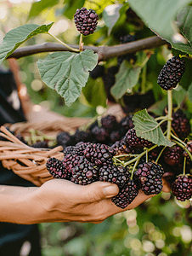
<path id="1" fill-rule="evenodd" d="M 123 5 L 121 3 L 111 4 L 104 8 L 103 11 L 103 18 L 105 25 L 110 29 L 109 33 L 112 29 L 112 27 L 116 24 L 116 21 L 120 17 L 119 10 L 121 9 Z"/>

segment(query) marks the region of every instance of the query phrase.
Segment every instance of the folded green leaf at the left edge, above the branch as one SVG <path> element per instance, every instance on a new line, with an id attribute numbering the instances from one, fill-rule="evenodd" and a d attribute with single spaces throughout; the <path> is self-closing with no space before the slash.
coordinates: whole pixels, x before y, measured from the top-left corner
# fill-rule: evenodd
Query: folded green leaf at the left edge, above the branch
<path id="1" fill-rule="evenodd" d="M 0 44 L 0 64 L 11 55 L 20 44 L 23 44 L 26 40 L 38 34 L 47 33 L 53 24 L 54 22 L 42 26 L 37 24 L 25 24 L 10 30 L 3 38 L 3 43 Z"/>

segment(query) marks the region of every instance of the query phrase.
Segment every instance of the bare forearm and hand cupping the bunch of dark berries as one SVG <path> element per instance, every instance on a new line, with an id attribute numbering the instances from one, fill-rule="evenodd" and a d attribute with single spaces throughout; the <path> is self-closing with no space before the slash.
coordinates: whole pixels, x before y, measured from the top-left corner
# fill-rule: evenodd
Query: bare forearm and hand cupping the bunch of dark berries
<path id="1" fill-rule="evenodd" d="M 18 224 L 100 223 L 118 212 L 138 207 L 151 197 L 139 190 L 133 202 L 121 209 L 111 201 L 118 191 L 118 187 L 111 183 L 95 182 L 82 186 L 63 179 L 52 179 L 40 188 L 0 186 L 0 220 Z"/>

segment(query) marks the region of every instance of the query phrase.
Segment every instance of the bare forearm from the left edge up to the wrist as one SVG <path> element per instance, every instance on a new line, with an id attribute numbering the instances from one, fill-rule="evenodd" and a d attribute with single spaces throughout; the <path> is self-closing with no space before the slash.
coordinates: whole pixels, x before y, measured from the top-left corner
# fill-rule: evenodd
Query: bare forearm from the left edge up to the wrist
<path id="1" fill-rule="evenodd" d="M 0 221 L 17 224 L 41 222 L 42 208 L 34 198 L 37 189 L 0 185 Z"/>

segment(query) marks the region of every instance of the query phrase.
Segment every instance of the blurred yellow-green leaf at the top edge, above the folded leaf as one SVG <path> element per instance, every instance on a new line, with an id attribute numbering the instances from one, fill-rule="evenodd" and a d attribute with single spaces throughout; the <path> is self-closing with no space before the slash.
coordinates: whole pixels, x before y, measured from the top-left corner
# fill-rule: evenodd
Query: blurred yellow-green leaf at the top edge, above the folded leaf
<path id="1" fill-rule="evenodd" d="M 59 3 L 59 0 L 41 0 L 39 2 L 32 3 L 28 19 L 39 15 L 42 10 L 48 9 L 57 3 Z"/>

